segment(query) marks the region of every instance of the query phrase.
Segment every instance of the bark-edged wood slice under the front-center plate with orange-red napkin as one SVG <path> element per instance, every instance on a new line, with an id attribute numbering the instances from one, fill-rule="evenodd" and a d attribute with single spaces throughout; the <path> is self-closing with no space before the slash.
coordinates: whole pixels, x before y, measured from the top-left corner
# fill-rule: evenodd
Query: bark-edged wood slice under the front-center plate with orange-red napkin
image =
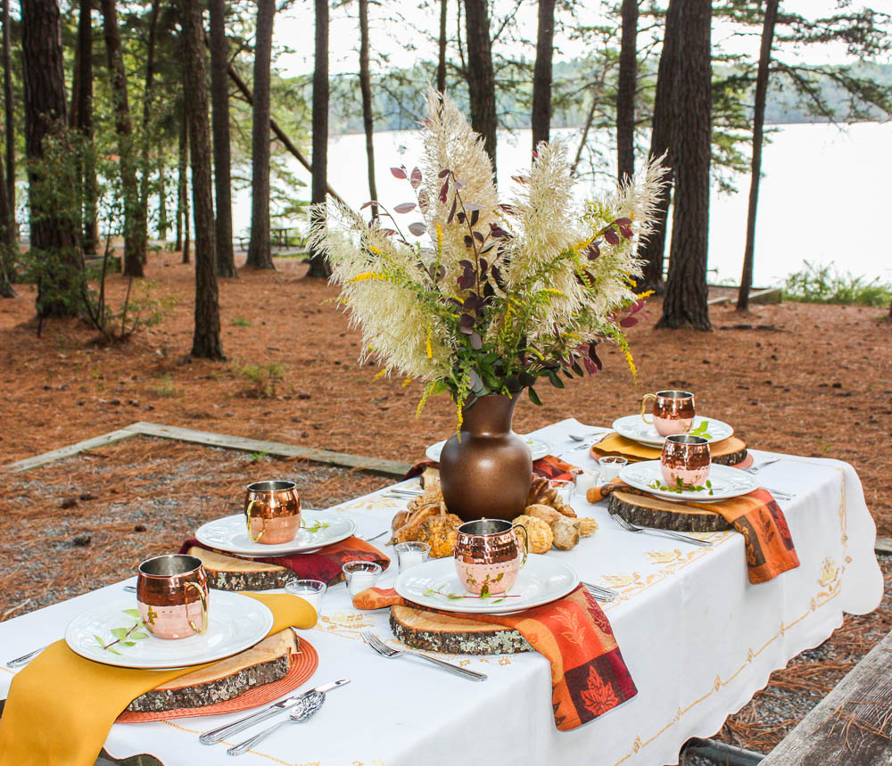
<path id="1" fill-rule="evenodd" d="M 411 606 L 392 606 L 393 635 L 404 644 L 447 655 L 511 655 L 533 652 L 526 638 L 512 628 L 434 614 Z"/>

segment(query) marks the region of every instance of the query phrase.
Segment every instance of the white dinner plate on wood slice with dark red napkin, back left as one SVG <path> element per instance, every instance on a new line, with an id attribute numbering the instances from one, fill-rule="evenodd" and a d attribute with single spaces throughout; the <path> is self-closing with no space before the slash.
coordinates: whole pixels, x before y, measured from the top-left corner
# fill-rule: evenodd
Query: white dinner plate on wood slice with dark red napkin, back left
<path id="1" fill-rule="evenodd" d="M 316 531 L 310 531 L 317 527 Z M 248 537 L 244 514 L 226 516 L 202 524 L 195 530 L 195 539 L 208 548 L 216 548 L 236 556 L 288 556 L 310 553 L 333 542 L 347 539 L 356 531 L 356 524 L 347 516 L 320 511 L 303 511 L 301 529 L 290 542 L 265 545 Z"/>

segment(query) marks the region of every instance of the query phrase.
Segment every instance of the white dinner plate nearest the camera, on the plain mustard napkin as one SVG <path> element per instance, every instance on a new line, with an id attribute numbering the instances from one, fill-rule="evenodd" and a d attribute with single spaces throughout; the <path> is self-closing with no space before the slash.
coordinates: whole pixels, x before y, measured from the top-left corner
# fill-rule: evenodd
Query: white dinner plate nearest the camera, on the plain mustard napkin
<path id="1" fill-rule="evenodd" d="M 111 630 L 129 630 L 136 617 L 125 610 L 136 609 L 135 596 L 122 596 L 106 604 L 94 606 L 75 617 L 65 630 L 65 641 L 73 652 L 96 663 L 121 668 L 182 668 L 211 663 L 235 655 L 265 638 L 273 626 L 273 613 L 256 598 L 225 590 L 211 590 L 208 595 L 208 630 L 189 638 L 155 638 L 147 630 L 146 638 L 132 647 L 120 644 L 115 655 L 103 649 L 96 640 L 111 642 Z M 137 634 L 140 631 L 134 631 Z"/>

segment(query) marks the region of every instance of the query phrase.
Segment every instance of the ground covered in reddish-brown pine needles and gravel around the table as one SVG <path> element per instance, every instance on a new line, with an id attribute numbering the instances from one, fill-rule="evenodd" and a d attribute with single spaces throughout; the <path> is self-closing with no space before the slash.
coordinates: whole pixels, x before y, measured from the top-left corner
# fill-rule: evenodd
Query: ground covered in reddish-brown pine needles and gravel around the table
<path id="1" fill-rule="evenodd" d="M 294 259 L 277 271 L 240 270 L 220 283 L 226 362 L 191 359 L 192 268 L 171 253 L 150 256 L 153 293 L 170 296 L 159 325 L 124 344 L 96 344 L 75 321 L 47 322 L 37 338 L 34 292 L 0 301 L 0 464 L 112 431 L 137 420 L 412 462 L 455 427 L 446 399 L 415 419 L 419 386 L 373 382 L 359 367 L 359 333 L 335 306 L 334 288 L 304 278 Z M 109 279 L 114 301 L 126 289 Z M 659 316 L 659 302 L 648 313 Z M 684 387 L 698 409 L 734 425 L 747 443 L 855 465 L 879 533 L 892 535 L 892 325 L 882 309 L 781 304 L 741 317 L 713 307 L 714 332 L 633 327 L 639 383 L 604 350 L 603 373 L 566 390 L 524 399 L 515 426 L 527 432 L 566 416 L 610 424 L 637 410 L 647 391 Z M 741 325 L 748 325 L 742 327 Z M 281 379 L 262 391 L 250 367 Z M 248 372 L 245 368 L 249 367 Z M 268 395 L 267 395 L 268 394 Z M 0 472 L 0 621 L 120 580 L 120 562 L 178 545 L 193 525 L 229 508 L 264 475 L 300 477 L 308 504 L 331 505 L 389 480 L 332 466 L 137 437 L 27 474 Z M 29 507 L 29 523 L 10 513 Z M 174 516 L 176 514 L 176 516 Z M 42 562 L 53 560 L 46 568 Z M 883 605 L 847 616 L 833 637 L 772 675 L 731 716 L 720 737 L 767 752 L 892 628 L 892 559 L 880 561 Z M 37 567 L 37 568 L 35 568 Z M 27 586 L 26 586 L 27 583 Z"/>

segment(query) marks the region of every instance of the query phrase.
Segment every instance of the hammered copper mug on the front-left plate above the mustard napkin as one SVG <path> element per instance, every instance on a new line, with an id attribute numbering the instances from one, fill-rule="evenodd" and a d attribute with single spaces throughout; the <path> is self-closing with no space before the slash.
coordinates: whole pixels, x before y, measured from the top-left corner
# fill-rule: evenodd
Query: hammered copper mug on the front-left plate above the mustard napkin
<path id="1" fill-rule="evenodd" d="M 157 638 L 188 638 L 208 629 L 208 575 L 197 556 L 154 556 L 139 564 L 136 602 Z"/>

